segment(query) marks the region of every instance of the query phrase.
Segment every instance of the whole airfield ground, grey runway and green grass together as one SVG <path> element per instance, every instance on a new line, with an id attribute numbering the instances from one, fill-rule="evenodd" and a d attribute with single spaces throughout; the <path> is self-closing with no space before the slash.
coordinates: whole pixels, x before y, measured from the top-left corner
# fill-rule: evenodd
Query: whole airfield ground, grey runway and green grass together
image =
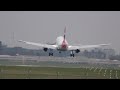
<path id="1" fill-rule="evenodd" d="M 58 57 L 0 57 L 0 79 L 120 79 L 120 61 Z"/>

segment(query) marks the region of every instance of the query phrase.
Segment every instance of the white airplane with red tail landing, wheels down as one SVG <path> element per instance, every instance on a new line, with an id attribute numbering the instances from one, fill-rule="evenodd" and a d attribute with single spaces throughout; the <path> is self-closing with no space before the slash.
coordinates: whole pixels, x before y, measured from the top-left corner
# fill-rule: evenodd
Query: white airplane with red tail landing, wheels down
<path id="1" fill-rule="evenodd" d="M 66 27 L 64 29 L 64 36 L 57 37 L 56 42 L 53 43 L 53 44 L 50 44 L 50 43 L 42 44 L 42 43 L 35 43 L 35 42 L 29 42 L 29 41 L 23 41 L 23 40 L 18 40 L 18 41 L 19 42 L 23 42 L 25 44 L 30 44 L 30 45 L 35 45 L 35 46 L 42 47 L 45 52 L 50 50 L 49 56 L 53 56 L 52 50 L 58 50 L 59 53 L 61 53 L 61 51 L 70 51 L 71 52 L 70 53 L 71 57 L 75 56 L 74 52 L 79 53 L 81 51 L 81 49 L 99 48 L 101 46 L 108 46 L 108 45 L 110 45 L 110 44 L 69 45 L 67 40 L 66 40 Z"/>

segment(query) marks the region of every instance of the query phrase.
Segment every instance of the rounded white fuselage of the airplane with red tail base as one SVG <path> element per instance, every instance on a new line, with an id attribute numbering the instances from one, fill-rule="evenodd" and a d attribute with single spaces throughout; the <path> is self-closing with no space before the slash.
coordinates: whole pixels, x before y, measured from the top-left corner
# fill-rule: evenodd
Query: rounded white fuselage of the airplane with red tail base
<path id="1" fill-rule="evenodd" d="M 57 49 L 60 51 L 66 51 L 68 49 L 68 42 L 63 36 L 59 36 L 56 39 L 56 45 L 58 46 Z"/>

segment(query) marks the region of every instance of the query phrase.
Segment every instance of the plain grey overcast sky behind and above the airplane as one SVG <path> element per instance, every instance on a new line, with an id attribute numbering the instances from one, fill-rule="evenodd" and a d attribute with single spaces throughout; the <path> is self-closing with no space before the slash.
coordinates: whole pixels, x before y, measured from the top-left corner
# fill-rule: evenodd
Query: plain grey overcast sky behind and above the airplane
<path id="1" fill-rule="evenodd" d="M 119 11 L 0 11 L 0 41 L 8 46 L 31 47 L 13 33 L 15 40 L 55 42 L 65 26 L 69 44 L 112 43 L 120 51 Z"/>

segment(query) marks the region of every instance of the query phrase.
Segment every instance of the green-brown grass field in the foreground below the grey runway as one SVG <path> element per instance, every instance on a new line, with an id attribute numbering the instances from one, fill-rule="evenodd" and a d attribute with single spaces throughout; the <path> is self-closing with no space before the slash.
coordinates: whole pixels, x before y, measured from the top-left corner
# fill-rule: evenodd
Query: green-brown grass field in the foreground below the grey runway
<path id="1" fill-rule="evenodd" d="M 119 79 L 120 70 L 81 67 L 0 66 L 0 79 Z"/>

